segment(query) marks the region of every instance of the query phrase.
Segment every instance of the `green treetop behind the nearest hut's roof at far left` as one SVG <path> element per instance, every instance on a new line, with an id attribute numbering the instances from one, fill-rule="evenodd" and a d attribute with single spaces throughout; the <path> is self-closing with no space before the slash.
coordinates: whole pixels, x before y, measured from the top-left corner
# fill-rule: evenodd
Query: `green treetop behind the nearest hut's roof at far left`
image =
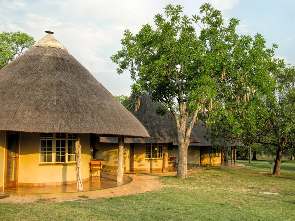
<path id="1" fill-rule="evenodd" d="M 20 31 L 0 33 L 0 69 L 23 55 L 34 43 L 32 36 Z"/>

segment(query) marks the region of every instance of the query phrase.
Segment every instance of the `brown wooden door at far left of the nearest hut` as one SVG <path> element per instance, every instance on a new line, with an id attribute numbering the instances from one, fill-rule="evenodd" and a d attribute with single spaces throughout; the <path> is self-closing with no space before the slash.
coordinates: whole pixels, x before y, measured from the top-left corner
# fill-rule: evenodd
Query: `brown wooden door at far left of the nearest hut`
<path id="1" fill-rule="evenodd" d="M 7 132 L 4 188 L 18 185 L 19 132 Z"/>

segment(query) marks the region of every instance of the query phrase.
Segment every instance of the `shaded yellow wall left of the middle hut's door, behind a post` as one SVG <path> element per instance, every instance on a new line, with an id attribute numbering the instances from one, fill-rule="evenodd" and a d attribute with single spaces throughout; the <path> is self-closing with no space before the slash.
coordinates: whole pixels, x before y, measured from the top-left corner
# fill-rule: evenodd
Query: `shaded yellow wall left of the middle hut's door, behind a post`
<path id="1" fill-rule="evenodd" d="M 127 148 L 125 159 L 125 171 L 130 171 L 130 144 L 125 143 L 124 148 Z M 118 168 L 118 143 L 100 143 L 99 151 L 96 153 L 96 159 L 105 159 L 106 163 L 102 168 L 115 170 Z"/>

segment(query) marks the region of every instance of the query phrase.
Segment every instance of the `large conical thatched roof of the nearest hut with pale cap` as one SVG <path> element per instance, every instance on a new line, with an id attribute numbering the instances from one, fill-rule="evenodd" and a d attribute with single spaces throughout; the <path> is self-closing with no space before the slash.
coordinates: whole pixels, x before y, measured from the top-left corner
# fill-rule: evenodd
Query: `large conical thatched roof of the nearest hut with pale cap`
<path id="1" fill-rule="evenodd" d="M 149 137 L 51 34 L 0 70 L 0 130 Z"/>

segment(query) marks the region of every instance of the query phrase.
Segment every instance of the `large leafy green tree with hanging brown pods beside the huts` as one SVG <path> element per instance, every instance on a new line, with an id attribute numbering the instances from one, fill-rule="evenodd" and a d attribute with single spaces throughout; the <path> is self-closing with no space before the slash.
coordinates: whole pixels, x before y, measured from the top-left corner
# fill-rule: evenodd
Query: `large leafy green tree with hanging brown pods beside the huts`
<path id="1" fill-rule="evenodd" d="M 225 113 L 221 98 L 231 97 L 244 105 L 254 86 L 257 91 L 268 86 L 273 65 L 274 49 L 266 49 L 261 35 L 238 35 L 239 21 L 232 18 L 225 25 L 221 12 L 208 3 L 200 7 L 200 14 L 190 18 L 180 5 L 168 5 L 166 19 L 155 15 L 155 28 L 145 24 L 135 35 L 126 30 L 122 49 L 111 56 L 119 74 L 130 71 L 134 97 L 149 93 L 173 114 L 181 178 L 187 175 L 189 138 L 201 111 L 210 123 Z"/>

